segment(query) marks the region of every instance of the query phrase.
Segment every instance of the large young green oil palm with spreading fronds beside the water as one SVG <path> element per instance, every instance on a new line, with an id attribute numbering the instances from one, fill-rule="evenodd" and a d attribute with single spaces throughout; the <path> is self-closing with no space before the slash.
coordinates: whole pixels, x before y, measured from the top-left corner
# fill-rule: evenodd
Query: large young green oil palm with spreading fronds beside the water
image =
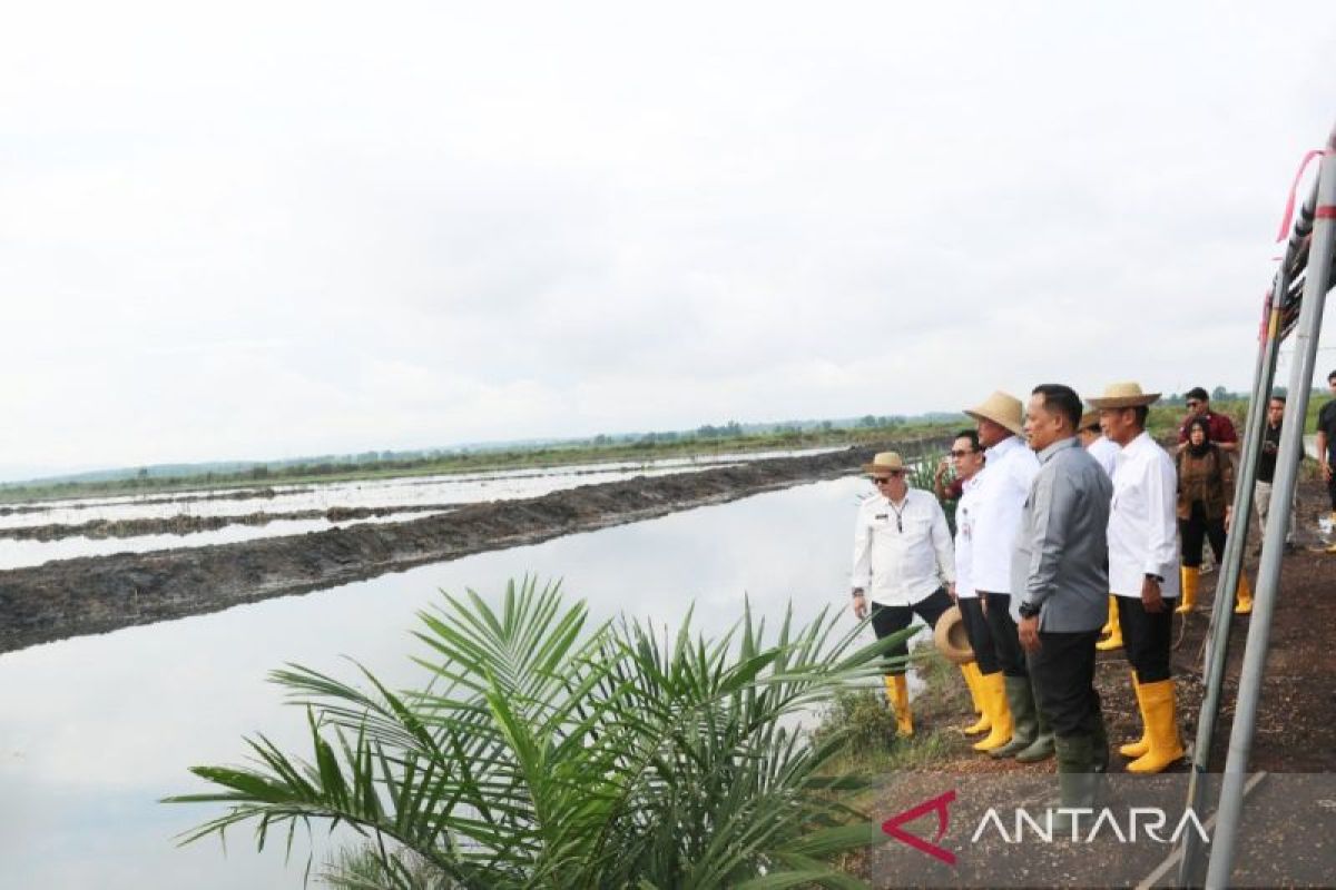
<path id="1" fill-rule="evenodd" d="M 892 639 L 860 646 L 827 610 L 786 614 L 774 640 L 749 610 L 720 639 L 689 614 L 672 638 L 589 627 L 533 579 L 500 608 L 468 591 L 420 618 L 418 690 L 275 671 L 307 709 L 310 759 L 261 735 L 248 767 L 195 767 L 219 790 L 168 801 L 230 809 L 186 842 L 345 823 L 377 861 L 357 886 L 862 886 L 827 865 L 878 837 L 838 801 L 860 787 L 827 769 L 844 738 L 811 742 L 799 721 L 879 674 Z"/>

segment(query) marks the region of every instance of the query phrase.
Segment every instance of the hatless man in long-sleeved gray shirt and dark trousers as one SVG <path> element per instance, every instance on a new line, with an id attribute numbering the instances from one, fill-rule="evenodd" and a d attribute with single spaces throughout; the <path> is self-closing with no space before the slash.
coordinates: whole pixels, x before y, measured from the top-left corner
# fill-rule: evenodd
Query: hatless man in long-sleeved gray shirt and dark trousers
<path id="1" fill-rule="evenodd" d="M 1081 396 L 1045 383 L 1026 407 L 1039 474 L 1011 554 L 1011 602 L 1039 709 L 1053 727 L 1062 807 L 1094 805 L 1109 741 L 1094 690 L 1094 644 L 1108 615 L 1113 483 L 1077 440 Z M 1062 817 L 1062 814 L 1058 814 Z M 1061 831 L 1070 817 L 1055 819 Z"/>

